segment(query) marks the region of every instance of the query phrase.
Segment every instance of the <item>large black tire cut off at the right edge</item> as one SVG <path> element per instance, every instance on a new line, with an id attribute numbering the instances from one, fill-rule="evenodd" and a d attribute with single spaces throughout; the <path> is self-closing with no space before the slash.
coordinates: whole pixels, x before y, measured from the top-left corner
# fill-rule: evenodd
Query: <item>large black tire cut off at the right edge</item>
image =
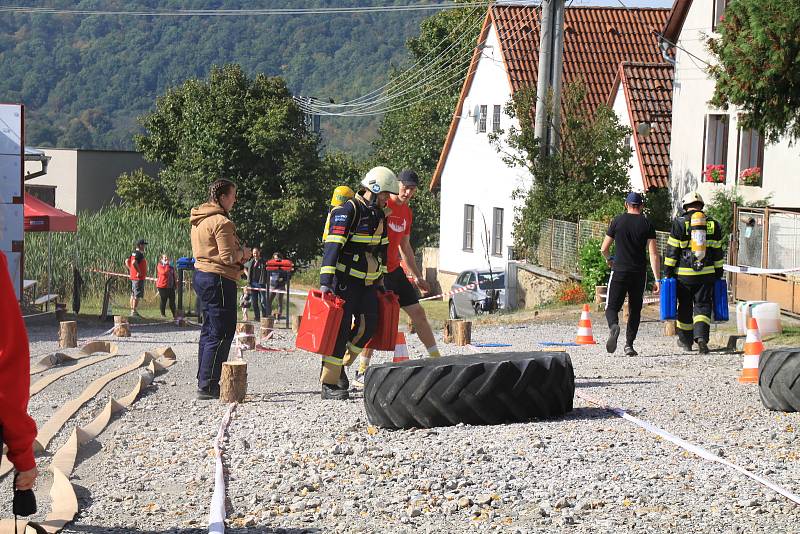
<path id="1" fill-rule="evenodd" d="M 800 412 L 800 349 L 770 349 L 761 354 L 758 394 L 770 410 Z"/>

